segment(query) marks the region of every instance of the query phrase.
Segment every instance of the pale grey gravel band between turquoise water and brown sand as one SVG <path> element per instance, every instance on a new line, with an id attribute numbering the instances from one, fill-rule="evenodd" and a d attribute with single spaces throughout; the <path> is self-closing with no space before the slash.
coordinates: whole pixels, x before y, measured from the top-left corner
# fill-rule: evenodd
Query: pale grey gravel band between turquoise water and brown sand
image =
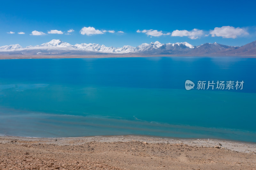
<path id="1" fill-rule="evenodd" d="M 256 154 L 256 143 L 235 141 L 235 140 L 225 140 L 225 139 L 180 139 L 180 138 L 161 138 L 153 136 L 134 136 L 134 135 L 124 135 L 124 136 L 88 136 L 88 137 L 17 137 L 17 136 L 0 136 L 0 141 L 8 141 L 8 139 L 21 140 L 21 141 L 44 141 L 46 143 L 53 142 L 55 140 L 62 141 L 58 142 L 58 145 L 66 144 L 69 141 L 77 142 L 78 140 L 83 140 L 84 142 L 95 142 L 97 140 L 99 143 L 104 142 L 147 142 L 148 144 L 187 144 L 196 147 L 215 147 L 219 146 L 220 149 L 227 149 L 235 152 L 244 153 L 255 153 Z M 2 142 L 3 143 L 3 142 Z M 4 142 L 6 143 L 6 142 Z M 77 143 L 79 144 L 79 142 Z M 221 145 L 220 145 L 221 144 Z"/>

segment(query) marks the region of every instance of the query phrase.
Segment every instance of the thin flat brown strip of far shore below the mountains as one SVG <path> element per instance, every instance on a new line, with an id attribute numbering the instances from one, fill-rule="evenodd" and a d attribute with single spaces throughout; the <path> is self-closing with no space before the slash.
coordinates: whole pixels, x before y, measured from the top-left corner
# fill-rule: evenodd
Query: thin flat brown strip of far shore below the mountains
<path id="1" fill-rule="evenodd" d="M 243 57 L 243 58 L 256 58 L 256 55 L 249 56 L 236 56 L 236 55 L 118 55 L 118 54 L 108 54 L 108 55 L 0 55 L 0 60 L 4 59 L 43 59 L 43 58 L 120 58 L 120 57 Z"/>

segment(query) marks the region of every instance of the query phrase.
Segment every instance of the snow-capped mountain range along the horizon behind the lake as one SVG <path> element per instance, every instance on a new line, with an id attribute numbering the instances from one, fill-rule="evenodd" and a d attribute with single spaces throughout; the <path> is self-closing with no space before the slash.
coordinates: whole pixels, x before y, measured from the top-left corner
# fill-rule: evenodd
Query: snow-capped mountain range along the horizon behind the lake
<path id="1" fill-rule="evenodd" d="M 244 46 L 227 46 L 205 43 L 193 46 L 188 42 L 166 43 L 158 41 L 143 43 L 137 47 L 125 45 L 121 48 L 100 44 L 71 45 L 61 40 L 52 40 L 41 45 L 21 47 L 19 44 L 0 47 L 0 55 L 175 55 L 175 56 L 256 56 L 256 41 Z"/>

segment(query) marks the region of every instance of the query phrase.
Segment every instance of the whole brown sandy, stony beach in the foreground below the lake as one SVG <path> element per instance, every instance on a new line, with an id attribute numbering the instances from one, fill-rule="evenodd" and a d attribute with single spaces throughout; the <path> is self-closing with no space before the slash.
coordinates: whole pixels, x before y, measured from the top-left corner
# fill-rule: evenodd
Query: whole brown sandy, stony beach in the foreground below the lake
<path id="1" fill-rule="evenodd" d="M 152 137 L 0 137 L 4 169 L 256 169 L 256 144 Z"/>

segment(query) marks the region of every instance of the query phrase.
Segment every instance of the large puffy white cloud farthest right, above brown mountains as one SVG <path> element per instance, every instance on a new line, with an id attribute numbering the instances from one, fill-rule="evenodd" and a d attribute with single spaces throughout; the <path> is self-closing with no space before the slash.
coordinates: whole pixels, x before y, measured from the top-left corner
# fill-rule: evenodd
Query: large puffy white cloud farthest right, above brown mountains
<path id="1" fill-rule="evenodd" d="M 210 31 L 212 37 L 222 37 L 222 38 L 237 38 L 239 35 L 248 35 L 249 33 L 240 27 L 233 27 L 233 26 L 222 26 L 222 27 L 215 27 L 214 30 Z"/>

